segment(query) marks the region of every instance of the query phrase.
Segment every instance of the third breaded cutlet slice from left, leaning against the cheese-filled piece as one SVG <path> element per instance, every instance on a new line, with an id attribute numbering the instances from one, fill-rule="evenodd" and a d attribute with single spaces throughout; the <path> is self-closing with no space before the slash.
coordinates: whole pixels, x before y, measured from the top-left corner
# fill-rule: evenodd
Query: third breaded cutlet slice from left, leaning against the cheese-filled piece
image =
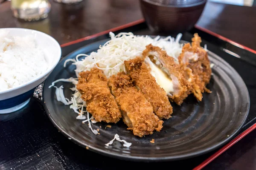
<path id="1" fill-rule="evenodd" d="M 160 119 L 169 119 L 172 114 L 172 106 L 166 92 L 157 84 L 156 79 L 150 73 L 150 68 L 148 69 L 148 65 L 143 59 L 136 57 L 125 61 L 125 68 L 135 81 L 136 86 L 152 105 L 154 113 Z"/>

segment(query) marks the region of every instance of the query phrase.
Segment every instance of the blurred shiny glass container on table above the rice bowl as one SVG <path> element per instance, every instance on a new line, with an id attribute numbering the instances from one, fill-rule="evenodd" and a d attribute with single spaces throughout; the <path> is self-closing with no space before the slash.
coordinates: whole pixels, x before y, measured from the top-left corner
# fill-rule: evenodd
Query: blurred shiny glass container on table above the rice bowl
<path id="1" fill-rule="evenodd" d="M 46 18 L 51 5 L 48 0 L 11 0 L 11 9 L 16 18 L 34 21 Z"/>

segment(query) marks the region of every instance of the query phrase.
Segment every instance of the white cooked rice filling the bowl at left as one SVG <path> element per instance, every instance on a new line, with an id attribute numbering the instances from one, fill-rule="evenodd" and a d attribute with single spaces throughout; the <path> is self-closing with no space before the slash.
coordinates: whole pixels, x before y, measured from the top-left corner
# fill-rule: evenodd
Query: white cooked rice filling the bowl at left
<path id="1" fill-rule="evenodd" d="M 10 36 L 8 31 L 0 31 L 0 91 L 35 79 L 47 68 L 34 37 Z"/>

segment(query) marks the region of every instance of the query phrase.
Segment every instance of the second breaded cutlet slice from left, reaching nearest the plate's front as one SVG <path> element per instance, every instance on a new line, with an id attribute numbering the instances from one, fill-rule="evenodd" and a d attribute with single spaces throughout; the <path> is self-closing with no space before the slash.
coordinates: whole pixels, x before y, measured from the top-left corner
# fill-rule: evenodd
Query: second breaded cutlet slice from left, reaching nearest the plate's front
<path id="1" fill-rule="evenodd" d="M 162 129 L 163 121 L 153 113 L 152 106 L 142 92 L 134 87 L 131 77 L 123 72 L 118 73 L 109 78 L 108 85 L 116 97 L 123 121 L 134 135 L 142 137 Z"/>

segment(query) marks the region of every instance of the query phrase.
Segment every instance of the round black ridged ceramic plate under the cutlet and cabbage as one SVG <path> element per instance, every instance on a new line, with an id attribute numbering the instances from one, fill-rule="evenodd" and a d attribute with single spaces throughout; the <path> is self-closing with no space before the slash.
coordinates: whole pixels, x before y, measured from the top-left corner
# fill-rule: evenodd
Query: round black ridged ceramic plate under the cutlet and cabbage
<path id="1" fill-rule="evenodd" d="M 97 153 L 120 159 L 136 161 L 164 161 L 186 159 L 207 153 L 228 142 L 242 127 L 249 111 L 249 94 L 239 74 L 221 57 L 209 52 L 209 59 L 214 64 L 212 79 L 208 88 L 211 94 L 204 94 L 202 102 L 189 96 L 181 106 L 172 103 L 172 118 L 165 120 L 163 129 L 145 137 L 134 136 L 125 124 L 119 121 L 105 128 L 106 123 L 92 124 L 99 129 L 100 135 L 94 135 L 87 124 L 76 119 L 77 113 L 56 100 L 55 88 L 48 88 L 56 79 L 76 77 L 75 66 L 70 63 L 63 67 L 66 59 L 77 54 L 90 54 L 107 40 L 84 46 L 67 55 L 56 66 L 44 83 L 44 106 L 53 124 L 73 142 Z M 58 82 L 64 86 L 64 95 L 70 99 L 73 87 L 71 83 Z M 100 126 L 102 128 L 100 128 Z M 131 142 L 129 148 L 114 142 L 105 146 L 115 134 Z M 155 143 L 150 143 L 155 139 Z"/>

